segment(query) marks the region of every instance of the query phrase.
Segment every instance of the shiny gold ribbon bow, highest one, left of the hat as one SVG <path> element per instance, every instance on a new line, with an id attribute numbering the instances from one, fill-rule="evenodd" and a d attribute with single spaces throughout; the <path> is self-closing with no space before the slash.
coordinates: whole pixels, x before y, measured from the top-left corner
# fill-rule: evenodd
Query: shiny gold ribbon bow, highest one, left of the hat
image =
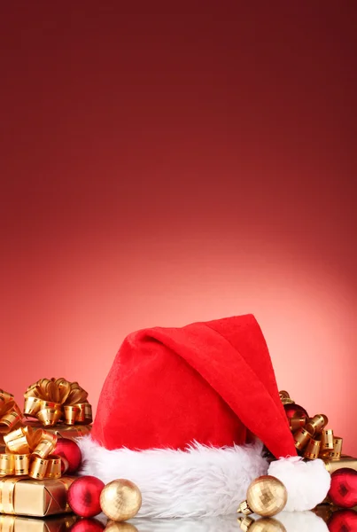
<path id="1" fill-rule="evenodd" d="M 27 388 L 24 414 L 37 418 L 43 426 L 54 426 L 59 420 L 66 425 L 92 422 L 88 393 L 78 382 L 66 379 L 40 379 Z"/>

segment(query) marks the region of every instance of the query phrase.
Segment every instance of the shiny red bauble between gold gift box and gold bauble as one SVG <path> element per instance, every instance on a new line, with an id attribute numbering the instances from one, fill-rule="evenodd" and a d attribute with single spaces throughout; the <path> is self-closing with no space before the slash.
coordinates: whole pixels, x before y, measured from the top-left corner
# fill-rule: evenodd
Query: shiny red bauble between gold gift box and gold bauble
<path id="1" fill-rule="evenodd" d="M 105 483 L 97 477 L 80 477 L 68 489 L 68 505 L 81 517 L 94 517 L 102 512 L 99 500 L 104 487 Z"/>

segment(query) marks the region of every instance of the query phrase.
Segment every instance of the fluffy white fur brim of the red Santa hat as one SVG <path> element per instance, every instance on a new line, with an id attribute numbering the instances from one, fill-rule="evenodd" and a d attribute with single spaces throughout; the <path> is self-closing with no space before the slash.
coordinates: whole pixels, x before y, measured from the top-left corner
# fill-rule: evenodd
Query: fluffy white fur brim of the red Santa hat
<path id="1" fill-rule="evenodd" d="M 90 436 L 78 441 L 81 475 L 128 479 L 141 489 L 140 517 L 212 517 L 237 512 L 249 484 L 266 474 L 262 444 L 215 449 L 195 443 L 182 450 L 106 450 Z"/>

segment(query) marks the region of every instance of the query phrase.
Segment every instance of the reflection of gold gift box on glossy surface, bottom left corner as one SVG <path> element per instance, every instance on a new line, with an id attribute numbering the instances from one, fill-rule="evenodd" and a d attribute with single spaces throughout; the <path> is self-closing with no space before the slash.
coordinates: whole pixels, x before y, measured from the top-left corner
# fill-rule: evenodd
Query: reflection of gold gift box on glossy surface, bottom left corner
<path id="1" fill-rule="evenodd" d="M 65 532 L 77 519 L 76 515 L 47 519 L 0 515 L 0 532 Z"/>

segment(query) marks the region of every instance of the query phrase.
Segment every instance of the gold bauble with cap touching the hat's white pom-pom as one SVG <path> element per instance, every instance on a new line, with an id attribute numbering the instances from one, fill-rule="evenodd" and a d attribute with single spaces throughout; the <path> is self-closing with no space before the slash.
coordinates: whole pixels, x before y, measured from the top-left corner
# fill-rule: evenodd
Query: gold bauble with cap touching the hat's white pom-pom
<path id="1" fill-rule="evenodd" d="M 260 476 L 252 481 L 246 493 L 246 500 L 239 505 L 237 512 L 272 517 L 282 512 L 287 499 L 288 493 L 283 482 L 271 475 Z"/>

